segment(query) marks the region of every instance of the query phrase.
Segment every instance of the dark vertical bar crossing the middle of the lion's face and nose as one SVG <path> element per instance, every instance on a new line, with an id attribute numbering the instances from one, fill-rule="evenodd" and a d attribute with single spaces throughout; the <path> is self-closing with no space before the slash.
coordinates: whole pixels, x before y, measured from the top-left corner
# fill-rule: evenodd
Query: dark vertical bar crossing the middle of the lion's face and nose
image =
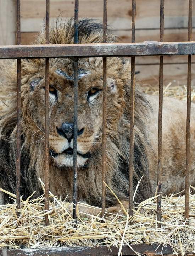
<path id="1" fill-rule="evenodd" d="M 79 1 L 74 1 L 74 43 L 79 43 Z M 73 139 L 73 219 L 77 219 L 77 104 L 78 104 L 78 58 L 74 58 L 74 139 Z"/>

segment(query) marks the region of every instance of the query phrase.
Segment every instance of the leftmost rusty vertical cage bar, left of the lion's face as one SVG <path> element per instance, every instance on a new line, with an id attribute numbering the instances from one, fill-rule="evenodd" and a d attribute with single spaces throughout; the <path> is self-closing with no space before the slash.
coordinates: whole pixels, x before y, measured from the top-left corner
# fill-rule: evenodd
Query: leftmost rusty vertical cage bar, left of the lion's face
<path id="1" fill-rule="evenodd" d="M 20 44 L 20 0 L 17 0 L 16 4 L 16 13 L 17 13 L 17 44 Z M 20 114 L 21 114 L 21 60 L 17 59 L 17 135 L 16 135 L 16 202 L 17 209 L 20 209 L 20 150 L 21 150 L 21 141 L 20 141 Z M 17 211 L 17 215 L 20 215 L 20 212 Z"/>

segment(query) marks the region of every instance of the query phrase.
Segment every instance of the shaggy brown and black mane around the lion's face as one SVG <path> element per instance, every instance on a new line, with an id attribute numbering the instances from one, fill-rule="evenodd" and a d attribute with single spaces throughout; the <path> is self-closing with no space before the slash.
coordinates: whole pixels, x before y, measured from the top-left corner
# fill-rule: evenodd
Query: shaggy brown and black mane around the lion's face
<path id="1" fill-rule="evenodd" d="M 101 43 L 102 25 L 93 20 L 79 21 L 79 43 Z M 50 30 L 50 44 L 69 44 L 74 41 L 74 26 L 72 20 L 63 23 L 57 21 Z M 118 42 L 110 30 L 108 42 Z M 45 31 L 38 35 L 37 44 L 45 43 Z M 108 58 L 108 62 L 109 62 Z M 126 59 L 121 58 L 125 63 Z M 51 63 L 54 60 L 51 60 Z M 40 127 L 38 120 L 33 119 L 30 97 L 26 96 L 23 84 L 28 81 L 28 74 L 33 74 L 36 65 L 42 59 L 25 59 L 21 61 L 21 194 L 24 198 L 37 191 L 42 193 L 38 177 L 44 181 L 44 140 L 39 137 Z M 117 63 L 117 62 L 115 62 Z M 117 65 L 117 64 L 116 64 Z M 110 118 L 107 125 L 107 171 L 106 182 L 120 199 L 128 199 L 128 172 L 129 172 L 129 113 L 130 113 L 130 73 L 123 79 L 125 105 L 119 109 L 122 113 Z M 16 191 L 16 62 L 8 61 L 0 66 L 0 86 L 6 92 L 7 107 L 0 117 L 0 186 L 15 193 Z M 136 86 L 137 87 L 137 86 Z M 142 201 L 151 196 L 151 185 L 148 178 L 148 164 L 145 152 L 147 142 L 147 128 L 145 126 L 150 105 L 144 95 L 135 90 L 134 106 L 134 189 L 138 180 L 143 176 L 137 190 L 135 201 Z M 109 115 L 109 113 L 108 113 Z M 39 129 L 38 129 L 39 127 Z M 35 132 L 37 131 L 37 137 Z M 89 204 L 101 205 L 101 144 L 93 153 L 94 161 L 78 170 L 78 199 L 85 199 Z M 64 168 L 65 169 L 65 168 Z M 66 174 L 64 174 L 66 172 Z M 61 170 L 50 161 L 50 190 L 57 196 L 72 200 L 73 170 Z M 62 176 L 66 178 L 61 178 Z M 114 204 L 115 197 L 107 191 L 107 206 Z"/>

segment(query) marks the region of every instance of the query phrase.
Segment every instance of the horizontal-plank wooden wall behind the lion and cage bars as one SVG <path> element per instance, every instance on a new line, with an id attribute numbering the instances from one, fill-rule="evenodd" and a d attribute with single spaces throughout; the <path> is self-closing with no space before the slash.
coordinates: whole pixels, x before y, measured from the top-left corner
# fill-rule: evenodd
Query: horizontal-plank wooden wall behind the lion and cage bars
<path id="1" fill-rule="evenodd" d="M 15 0 L 0 0 L 0 14 L 9 13 L 9 3 Z M 130 0 L 107 0 L 108 2 L 108 25 L 112 26 L 115 33 L 123 42 L 131 41 L 131 1 Z M 3 6 L 4 5 L 4 6 Z M 195 0 L 193 0 L 193 39 L 195 40 Z M 102 21 L 102 0 L 79 0 L 79 18 L 91 17 Z M 73 17 L 74 0 L 50 0 L 51 23 L 56 17 Z M 4 15 L 5 16 L 5 15 Z M 11 16 L 11 15 L 10 15 Z M 13 20 L 6 16 L 6 26 L 2 26 L 0 20 L 0 35 L 9 29 L 8 23 Z M 159 41 L 160 26 L 160 0 L 137 0 L 136 15 L 136 41 L 146 40 Z M 45 0 L 21 0 L 21 43 L 33 42 L 40 30 L 45 17 Z M 3 28 L 4 27 L 4 28 Z M 188 39 L 188 0 L 165 0 L 165 41 L 187 41 Z M 12 29 L 13 30 L 13 29 Z M 4 44 L 9 39 L 4 37 Z M 165 57 L 165 84 L 176 81 L 186 84 L 187 57 Z M 145 83 L 158 83 L 158 57 L 136 58 L 137 75 Z M 195 58 L 193 57 L 193 62 Z M 151 65 L 146 65 L 151 64 Z M 193 64 L 193 79 L 195 79 L 195 64 Z M 194 80 L 193 80 L 194 82 Z"/>

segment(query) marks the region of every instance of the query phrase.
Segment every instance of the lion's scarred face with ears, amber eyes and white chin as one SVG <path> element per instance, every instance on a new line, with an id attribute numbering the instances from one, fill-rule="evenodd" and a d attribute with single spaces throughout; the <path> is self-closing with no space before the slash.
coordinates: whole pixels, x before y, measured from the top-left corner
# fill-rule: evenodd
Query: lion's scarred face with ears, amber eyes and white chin
<path id="1" fill-rule="evenodd" d="M 78 166 L 84 166 L 93 151 L 101 145 L 102 127 L 102 59 L 80 60 L 78 66 Z M 99 63 L 99 68 L 97 66 Z M 96 65 L 96 68 L 94 68 Z M 109 71 L 109 69 L 108 69 Z M 56 61 L 50 67 L 49 148 L 58 166 L 73 166 L 74 73 L 70 59 Z M 107 111 L 115 119 L 122 95 L 117 76 L 107 72 Z M 45 126 L 45 69 L 28 81 L 36 108 L 33 119 Z M 28 85 L 28 86 L 29 86 Z M 119 105 L 119 104 L 118 104 Z M 119 107 L 119 106 L 118 106 Z M 121 106 L 120 106 L 121 107 Z"/>

